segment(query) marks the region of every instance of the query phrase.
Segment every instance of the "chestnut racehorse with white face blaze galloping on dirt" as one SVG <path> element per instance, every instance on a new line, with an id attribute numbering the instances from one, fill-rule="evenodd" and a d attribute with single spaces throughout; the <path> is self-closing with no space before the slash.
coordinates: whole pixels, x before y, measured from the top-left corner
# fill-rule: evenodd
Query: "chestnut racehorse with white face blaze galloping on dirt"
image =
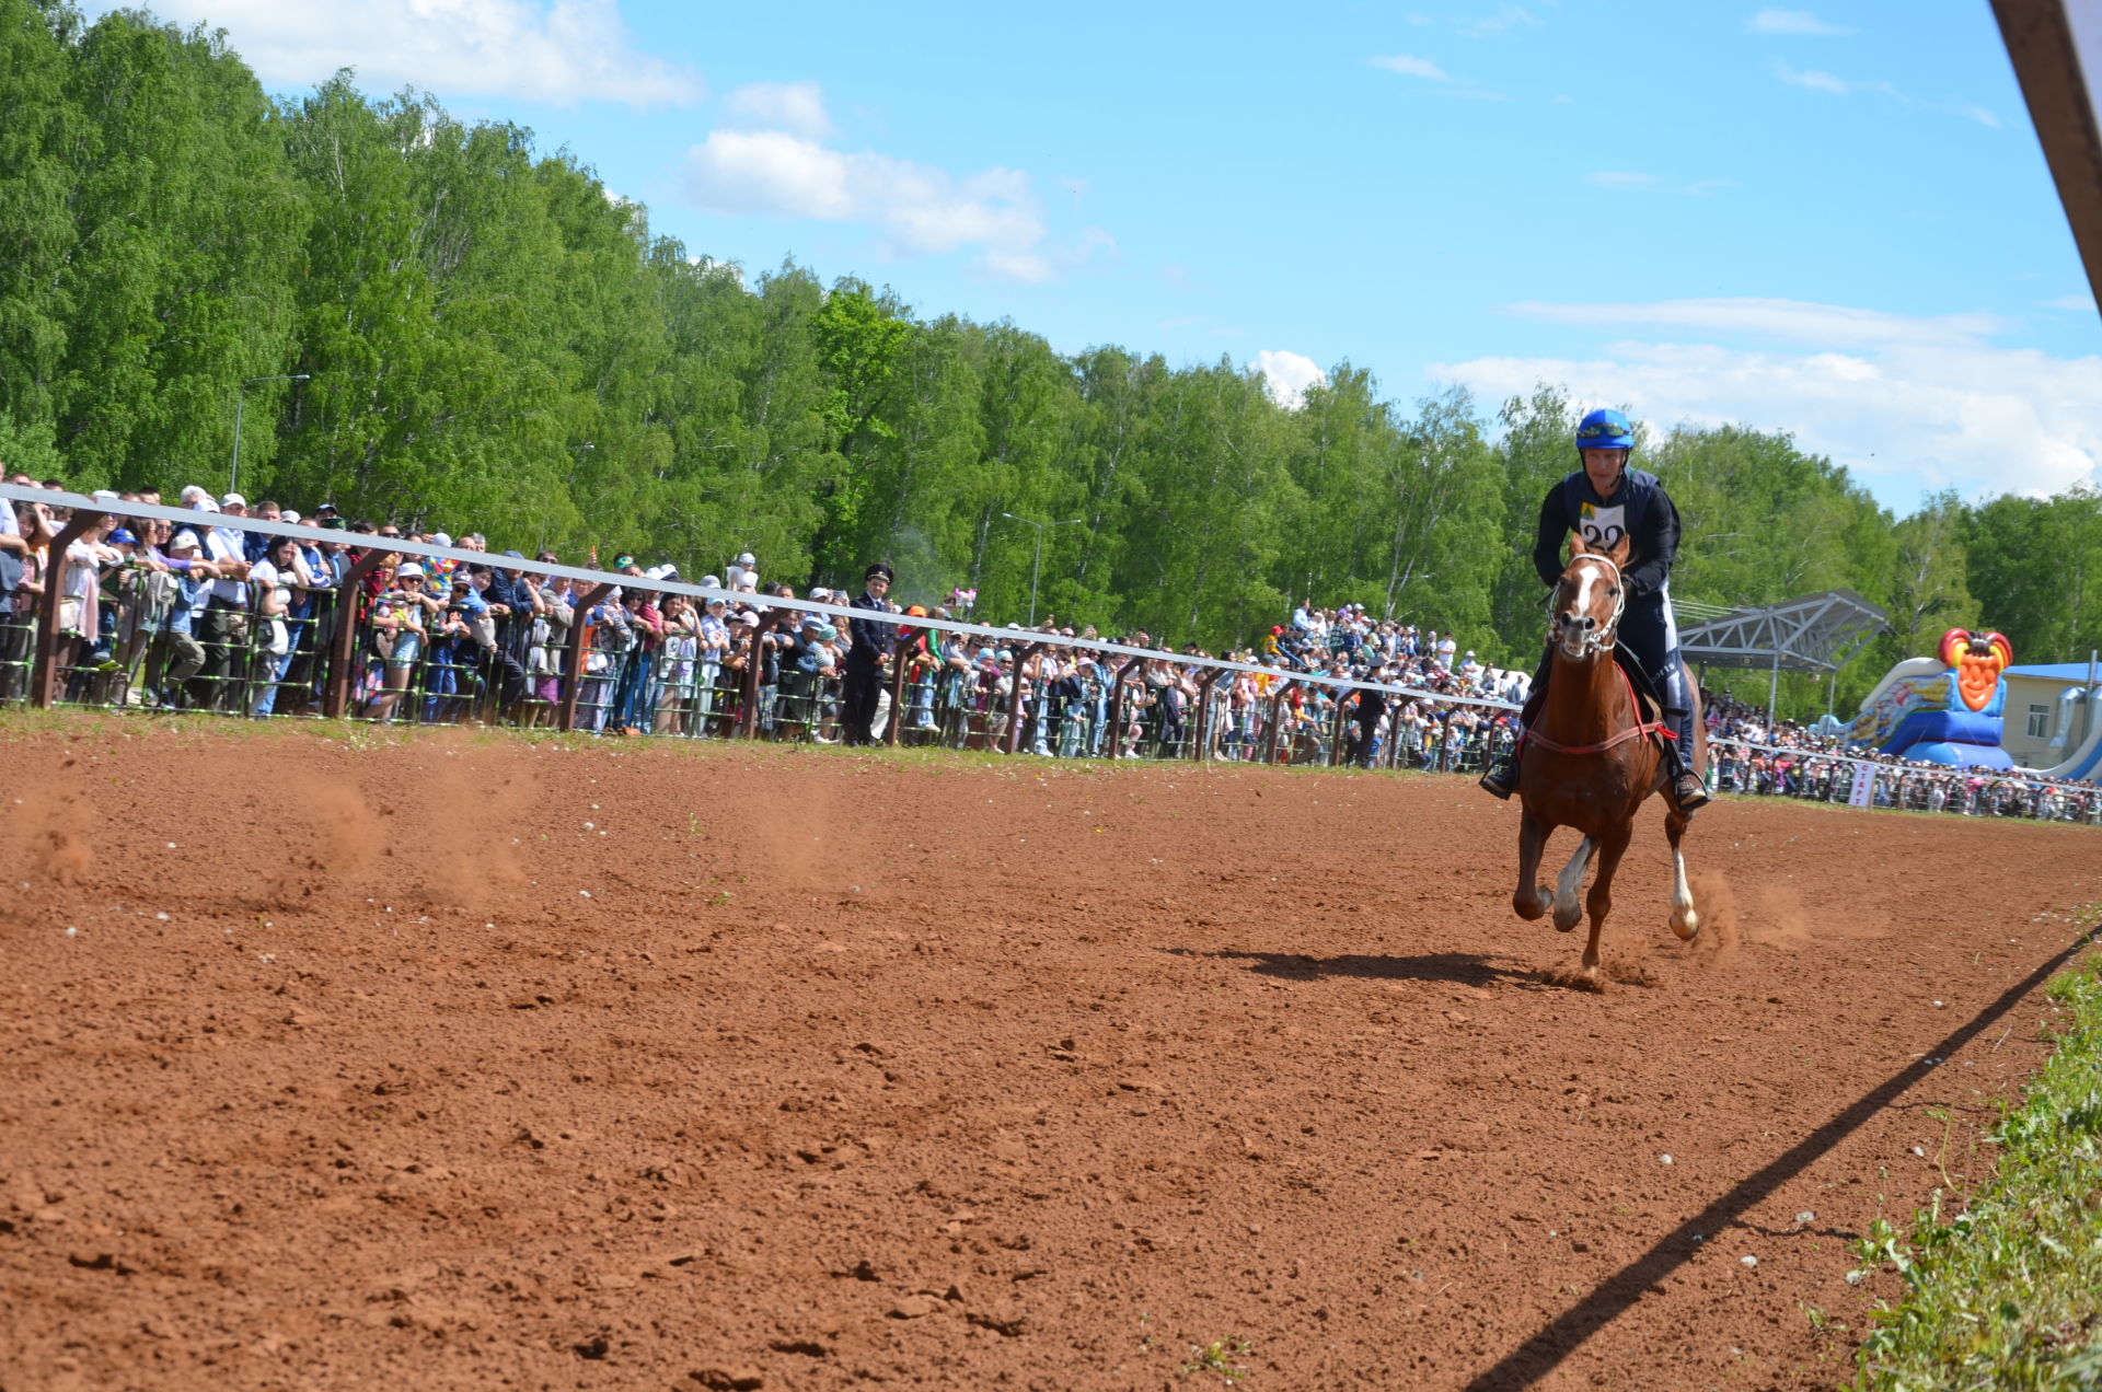
<path id="1" fill-rule="evenodd" d="M 1549 603 L 1547 641 L 1553 667 L 1547 702 L 1524 734 L 1518 763 L 1518 892 L 1511 906 L 1520 919 L 1539 919 L 1553 906 L 1555 929 L 1570 932 L 1583 919 L 1576 889 L 1598 856 L 1591 883 L 1591 940 L 1583 948 L 1583 974 L 1598 980 L 1598 940 L 1612 908 L 1612 873 L 1621 866 L 1635 831 L 1635 812 L 1650 793 L 1663 793 L 1667 761 L 1656 725 L 1644 721 L 1635 688 L 1612 660 L 1621 612 L 1627 608 L 1629 543 L 1587 549 L 1570 536 L 1570 559 Z M 1688 683 L 1692 685 L 1692 683 Z M 1694 700 L 1694 749 L 1688 765 L 1707 770 L 1707 732 L 1701 728 L 1701 694 Z M 1669 801 L 1669 793 L 1667 793 Z M 1671 839 L 1671 932 L 1682 940 L 1701 932 L 1692 889 L 1686 887 L 1686 856 L 1679 837 L 1690 818 L 1677 807 L 1665 814 Z M 1539 883 L 1541 852 L 1558 826 L 1583 833 L 1576 854 L 1562 868 L 1553 892 Z"/>

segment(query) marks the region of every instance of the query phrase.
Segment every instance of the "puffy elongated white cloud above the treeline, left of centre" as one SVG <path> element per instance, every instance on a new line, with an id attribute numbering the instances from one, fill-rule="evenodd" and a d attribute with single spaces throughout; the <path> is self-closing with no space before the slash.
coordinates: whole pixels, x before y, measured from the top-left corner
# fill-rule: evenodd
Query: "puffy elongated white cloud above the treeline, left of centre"
<path id="1" fill-rule="evenodd" d="M 1072 246 L 1047 246 L 1030 177 L 988 168 L 954 177 L 931 164 L 841 151 L 788 130 L 710 130 L 687 151 L 687 198 L 729 217 L 807 217 L 874 227 L 895 254 L 977 250 L 1003 280 L 1045 282 L 1116 240 L 1085 227 Z"/>

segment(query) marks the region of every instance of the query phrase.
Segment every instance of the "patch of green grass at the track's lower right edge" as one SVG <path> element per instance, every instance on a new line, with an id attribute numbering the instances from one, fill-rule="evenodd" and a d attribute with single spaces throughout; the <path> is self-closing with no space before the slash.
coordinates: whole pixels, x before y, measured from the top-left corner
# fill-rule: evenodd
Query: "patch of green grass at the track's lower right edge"
<path id="1" fill-rule="evenodd" d="M 1909 1241 L 1877 1220 L 1860 1243 L 1904 1281 L 1862 1339 L 1864 1392 L 2102 1386 L 2102 953 L 2047 990 L 2058 1047 L 2003 1106 L 1991 1184 L 1961 1211 L 1936 1190 Z"/>

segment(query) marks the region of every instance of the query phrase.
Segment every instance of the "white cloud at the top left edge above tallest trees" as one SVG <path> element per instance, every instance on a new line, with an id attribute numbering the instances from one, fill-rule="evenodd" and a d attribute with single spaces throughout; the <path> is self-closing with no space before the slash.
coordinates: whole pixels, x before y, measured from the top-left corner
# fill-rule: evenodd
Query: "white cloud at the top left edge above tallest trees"
<path id="1" fill-rule="evenodd" d="M 681 105 L 700 76 L 628 44 L 614 0 L 156 0 L 162 19 L 223 27 L 267 86 L 309 86 L 355 67 L 366 90 L 570 105 Z"/>

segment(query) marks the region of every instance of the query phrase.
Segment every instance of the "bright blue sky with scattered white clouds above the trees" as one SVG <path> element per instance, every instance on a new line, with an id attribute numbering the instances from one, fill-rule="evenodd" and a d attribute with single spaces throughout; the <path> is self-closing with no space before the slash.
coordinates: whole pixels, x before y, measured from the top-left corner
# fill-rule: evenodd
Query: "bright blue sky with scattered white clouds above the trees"
<path id="1" fill-rule="evenodd" d="M 162 0 L 530 126 L 692 252 L 1072 351 L 1349 360 L 1791 431 L 1921 492 L 2098 482 L 2102 322 L 1984 0 Z"/>

